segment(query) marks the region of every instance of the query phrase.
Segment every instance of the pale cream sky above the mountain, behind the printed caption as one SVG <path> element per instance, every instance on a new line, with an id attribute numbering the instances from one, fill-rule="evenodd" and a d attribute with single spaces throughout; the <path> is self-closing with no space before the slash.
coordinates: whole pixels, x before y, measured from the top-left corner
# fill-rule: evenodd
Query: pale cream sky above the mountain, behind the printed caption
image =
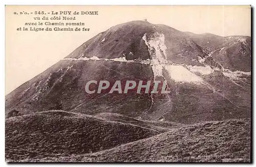
<path id="1" fill-rule="evenodd" d="M 89 32 L 17 31 L 26 22 L 48 21 L 33 18 L 42 15 L 14 14 L 23 11 L 98 11 L 98 15 L 75 16 L 73 22 L 84 22 L 80 27 L 90 28 Z M 250 6 L 6 6 L 6 94 L 116 24 L 147 19 L 196 34 L 251 36 L 250 12 Z"/>

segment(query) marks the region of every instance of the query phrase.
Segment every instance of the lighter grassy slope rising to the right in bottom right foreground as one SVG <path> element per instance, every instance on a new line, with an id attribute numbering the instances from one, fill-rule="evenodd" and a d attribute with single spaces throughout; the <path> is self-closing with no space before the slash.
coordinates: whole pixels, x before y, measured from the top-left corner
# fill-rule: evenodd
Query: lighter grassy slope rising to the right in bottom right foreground
<path id="1" fill-rule="evenodd" d="M 109 150 L 40 161 L 237 162 L 250 161 L 250 120 L 206 122 L 170 130 Z"/>

